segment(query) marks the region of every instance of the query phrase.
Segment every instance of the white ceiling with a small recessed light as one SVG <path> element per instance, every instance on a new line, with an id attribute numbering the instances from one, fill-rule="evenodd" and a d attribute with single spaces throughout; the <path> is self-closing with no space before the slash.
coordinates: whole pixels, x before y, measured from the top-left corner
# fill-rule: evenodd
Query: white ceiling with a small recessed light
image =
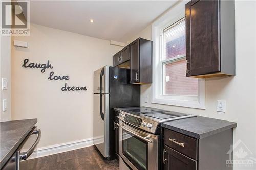
<path id="1" fill-rule="evenodd" d="M 30 18 L 55 29 L 127 42 L 176 2 L 30 1 Z"/>

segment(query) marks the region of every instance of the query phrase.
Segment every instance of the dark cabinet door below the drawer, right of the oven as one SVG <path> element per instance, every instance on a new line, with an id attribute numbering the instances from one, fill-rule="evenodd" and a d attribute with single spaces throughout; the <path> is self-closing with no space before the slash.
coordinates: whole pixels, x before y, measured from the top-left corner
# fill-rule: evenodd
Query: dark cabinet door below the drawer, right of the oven
<path id="1" fill-rule="evenodd" d="M 164 170 L 196 170 L 197 162 L 164 145 Z"/>

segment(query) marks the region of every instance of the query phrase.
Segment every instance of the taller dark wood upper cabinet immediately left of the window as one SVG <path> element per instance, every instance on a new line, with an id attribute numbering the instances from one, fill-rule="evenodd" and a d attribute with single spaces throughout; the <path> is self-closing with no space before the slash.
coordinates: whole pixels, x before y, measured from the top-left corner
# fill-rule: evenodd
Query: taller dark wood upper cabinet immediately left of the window
<path id="1" fill-rule="evenodd" d="M 130 44 L 130 83 L 152 83 L 152 41 L 138 38 Z"/>

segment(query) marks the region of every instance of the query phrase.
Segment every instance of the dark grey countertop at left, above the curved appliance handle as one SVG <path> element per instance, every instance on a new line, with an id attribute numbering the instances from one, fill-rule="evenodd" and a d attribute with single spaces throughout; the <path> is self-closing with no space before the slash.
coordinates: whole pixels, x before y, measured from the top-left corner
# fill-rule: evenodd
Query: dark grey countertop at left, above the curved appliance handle
<path id="1" fill-rule="evenodd" d="M 0 122 L 0 169 L 29 134 L 37 119 Z"/>

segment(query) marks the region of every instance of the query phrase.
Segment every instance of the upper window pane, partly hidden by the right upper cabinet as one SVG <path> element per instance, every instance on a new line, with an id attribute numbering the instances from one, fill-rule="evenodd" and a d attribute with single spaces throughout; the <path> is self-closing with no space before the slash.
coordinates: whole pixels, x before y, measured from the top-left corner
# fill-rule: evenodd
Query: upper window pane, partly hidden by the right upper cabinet
<path id="1" fill-rule="evenodd" d="M 163 60 L 186 53 L 185 20 L 163 30 Z"/>

